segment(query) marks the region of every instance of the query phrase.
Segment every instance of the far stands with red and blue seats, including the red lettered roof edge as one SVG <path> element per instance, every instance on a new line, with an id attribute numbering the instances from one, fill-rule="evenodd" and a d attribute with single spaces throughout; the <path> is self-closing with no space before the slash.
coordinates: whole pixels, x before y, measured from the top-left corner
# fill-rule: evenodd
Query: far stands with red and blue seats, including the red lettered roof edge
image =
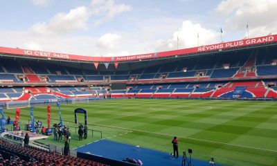
<path id="1" fill-rule="evenodd" d="M 277 97 L 277 35 L 125 57 L 0 47 L 0 102 Z"/>

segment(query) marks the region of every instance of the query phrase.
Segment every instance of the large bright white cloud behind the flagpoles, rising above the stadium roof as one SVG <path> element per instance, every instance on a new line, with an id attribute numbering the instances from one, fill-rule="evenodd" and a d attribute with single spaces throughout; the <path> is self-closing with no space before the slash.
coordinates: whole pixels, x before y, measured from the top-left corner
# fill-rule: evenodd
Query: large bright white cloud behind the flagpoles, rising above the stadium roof
<path id="1" fill-rule="evenodd" d="M 184 21 L 181 28 L 173 33 L 172 38 L 158 40 L 155 44 L 157 50 L 175 50 L 179 38 L 179 49 L 198 46 L 197 33 L 199 34 L 199 46 L 219 42 L 220 33 L 215 30 L 203 28 L 192 21 Z"/>

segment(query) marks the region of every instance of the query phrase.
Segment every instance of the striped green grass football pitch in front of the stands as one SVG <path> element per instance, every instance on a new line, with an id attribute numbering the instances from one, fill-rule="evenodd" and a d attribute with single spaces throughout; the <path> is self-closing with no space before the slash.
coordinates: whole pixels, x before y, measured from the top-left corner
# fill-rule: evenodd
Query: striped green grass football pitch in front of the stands
<path id="1" fill-rule="evenodd" d="M 87 140 L 78 140 L 73 110 L 80 107 L 88 111 L 88 128 L 102 131 L 109 140 L 172 152 L 171 140 L 177 136 L 179 152 L 193 149 L 193 158 L 213 156 L 223 165 L 277 165 L 277 102 L 129 99 L 61 107 L 73 135 L 71 149 L 100 139 L 99 133 L 89 133 Z M 14 109 L 8 113 L 15 117 Z M 35 107 L 34 115 L 46 126 L 46 106 Z M 80 122 L 83 118 L 78 116 Z M 29 109 L 22 109 L 22 127 L 28 120 Z M 58 120 L 53 105 L 51 124 Z M 53 137 L 42 141 L 64 145 Z"/>

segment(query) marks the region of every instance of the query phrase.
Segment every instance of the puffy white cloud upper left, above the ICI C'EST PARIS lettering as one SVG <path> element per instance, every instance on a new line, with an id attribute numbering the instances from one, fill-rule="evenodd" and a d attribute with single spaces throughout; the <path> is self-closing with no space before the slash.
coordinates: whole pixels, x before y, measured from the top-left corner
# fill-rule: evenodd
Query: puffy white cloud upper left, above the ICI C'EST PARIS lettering
<path id="1" fill-rule="evenodd" d="M 32 30 L 38 34 L 64 34 L 73 30 L 86 30 L 89 12 L 84 6 L 74 8 L 69 13 L 57 13 L 49 23 L 39 22 L 32 26 Z"/>

